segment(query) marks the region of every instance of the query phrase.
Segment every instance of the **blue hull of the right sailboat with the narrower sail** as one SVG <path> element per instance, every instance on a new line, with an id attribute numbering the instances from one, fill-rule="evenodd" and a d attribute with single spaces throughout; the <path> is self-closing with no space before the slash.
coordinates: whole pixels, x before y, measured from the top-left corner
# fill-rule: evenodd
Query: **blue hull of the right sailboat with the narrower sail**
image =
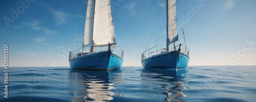
<path id="1" fill-rule="evenodd" d="M 155 55 L 143 60 L 142 66 L 144 69 L 176 69 L 176 68 L 186 68 L 188 64 L 189 57 L 179 53 L 175 55 L 174 52 L 167 52 L 159 55 Z"/>

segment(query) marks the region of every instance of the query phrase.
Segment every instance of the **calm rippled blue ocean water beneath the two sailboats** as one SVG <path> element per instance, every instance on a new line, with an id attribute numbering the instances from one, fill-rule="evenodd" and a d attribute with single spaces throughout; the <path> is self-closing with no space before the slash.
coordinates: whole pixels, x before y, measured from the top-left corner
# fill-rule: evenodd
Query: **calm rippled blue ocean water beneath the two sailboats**
<path id="1" fill-rule="evenodd" d="M 0 77 L 0 101 L 256 101 L 256 66 L 108 72 L 11 67 L 8 77 L 8 98 Z"/>

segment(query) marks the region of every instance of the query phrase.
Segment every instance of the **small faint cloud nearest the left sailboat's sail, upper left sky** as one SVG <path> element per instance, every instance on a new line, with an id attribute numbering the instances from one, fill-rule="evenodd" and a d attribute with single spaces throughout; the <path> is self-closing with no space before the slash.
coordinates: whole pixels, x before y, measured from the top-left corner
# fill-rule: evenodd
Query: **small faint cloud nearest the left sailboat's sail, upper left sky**
<path id="1" fill-rule="evenodd" d="M 55 10 L 55 9 L 50 9 L 50 10 L 54 14 L 54 19 L 55 19 L 56 25 L 61 25 L 61 24 L 66 23 L 67 17 L 70 16 L 69 14 L 67 14 L 63 11 L 59 11 L 59 10 Z"/>

